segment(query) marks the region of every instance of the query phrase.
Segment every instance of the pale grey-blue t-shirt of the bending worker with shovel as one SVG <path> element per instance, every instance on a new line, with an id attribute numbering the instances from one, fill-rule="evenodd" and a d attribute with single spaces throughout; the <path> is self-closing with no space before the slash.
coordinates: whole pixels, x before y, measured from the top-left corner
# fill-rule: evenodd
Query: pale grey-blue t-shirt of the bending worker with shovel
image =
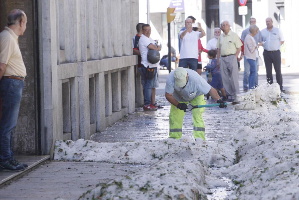
<path id="1" fill-rule="evenodd" d="M 211 86 L 203 79 L 196 71 L 186 69 L 189 79 L 184 88 L 176 86 L 174 81 L 174 71 L 171 71 L 167 76 L 165 91 L 173 94 L 177 101 L 191 101 L 201 94 L 208 94 Z"/>

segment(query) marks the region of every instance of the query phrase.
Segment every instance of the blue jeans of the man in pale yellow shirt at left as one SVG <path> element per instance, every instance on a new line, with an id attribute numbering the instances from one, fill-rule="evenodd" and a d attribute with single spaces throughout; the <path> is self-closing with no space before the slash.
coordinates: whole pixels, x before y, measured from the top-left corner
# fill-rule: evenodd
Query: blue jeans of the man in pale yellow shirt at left
<path id="1" fill-rule="evenodd" d="M 13 157 L 13 131 L 18 121 L 22 98 L 23 81 L 2 78 L 0 80 L 0 97 L 2 117 L 0 120 L 0 161 Z"/>

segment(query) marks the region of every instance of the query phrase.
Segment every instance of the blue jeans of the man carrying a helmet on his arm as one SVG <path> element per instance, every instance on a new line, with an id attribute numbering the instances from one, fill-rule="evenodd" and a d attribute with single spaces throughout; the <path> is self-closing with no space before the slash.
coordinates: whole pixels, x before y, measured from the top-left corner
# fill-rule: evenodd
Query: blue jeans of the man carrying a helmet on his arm
<path id="1" fill-rule="evenodd" d="M 151 95 L 152 95 L 152 87 L 154 84 L 154 79 L 156 76 L 154 76 L 152 79 L 149 79 L 146 77 L 147 75 L 147 68 L 144 67 L 144 65 L 141 65 L 141 73 L 142 73 L 142 78 L 144 79 L 143 82 L 143 94 L 144 94 L 144 105 L 147 106 L 151 104 Z M 154 68 L 154 73 L 157 73 L 157 68 Z M 141 79 L 142 79 L 141 78 Z"/>

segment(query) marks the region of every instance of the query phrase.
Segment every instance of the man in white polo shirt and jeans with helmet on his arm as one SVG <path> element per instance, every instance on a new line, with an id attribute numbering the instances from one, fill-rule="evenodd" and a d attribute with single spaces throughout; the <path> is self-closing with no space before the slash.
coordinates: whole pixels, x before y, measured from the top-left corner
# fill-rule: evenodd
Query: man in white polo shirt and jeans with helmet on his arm
<path id="1" fill-rule="evenodd" d="M 151 94 L 152 87 L 154 83 L 153 78 L 147 77 L 147 68 L 153 69 L 154 74 L 157 73 L 157 67 L 159 67 L 159 62 L 152 64 L 147 60 L 147 52 L 148 50 L 157 50 L 160 51 L 161 47 L 156 44 L 156 42 L 150 37 L 151 28 L 149 24 L 142 25 L 142 34 L 139 39 L 139 51 L 141 54 L 141 76 L 144 79 L 143 82 L 143 91 L 144 91 L 144 106 L 143 110 L 157 110 L 157 106 L 152 105 L 151 103 Z"/>

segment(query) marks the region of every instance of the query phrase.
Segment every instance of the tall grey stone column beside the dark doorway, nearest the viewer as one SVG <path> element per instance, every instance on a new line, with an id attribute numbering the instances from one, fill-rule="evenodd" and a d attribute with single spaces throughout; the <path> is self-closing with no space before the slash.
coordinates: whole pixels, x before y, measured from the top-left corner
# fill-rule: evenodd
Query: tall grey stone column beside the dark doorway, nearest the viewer
<path id="1" fill-rule="evenodd" d="M 51 154 L 51 158 L 53 158 L 55 139 L 59 138 L 57 116 L 60 112 L 57 94 L 56 4 L 52 0 L 40 0 L 38 7 L 40 10 L 40 79 L 43 86 L 41 92 L 42 154 Z"/>

